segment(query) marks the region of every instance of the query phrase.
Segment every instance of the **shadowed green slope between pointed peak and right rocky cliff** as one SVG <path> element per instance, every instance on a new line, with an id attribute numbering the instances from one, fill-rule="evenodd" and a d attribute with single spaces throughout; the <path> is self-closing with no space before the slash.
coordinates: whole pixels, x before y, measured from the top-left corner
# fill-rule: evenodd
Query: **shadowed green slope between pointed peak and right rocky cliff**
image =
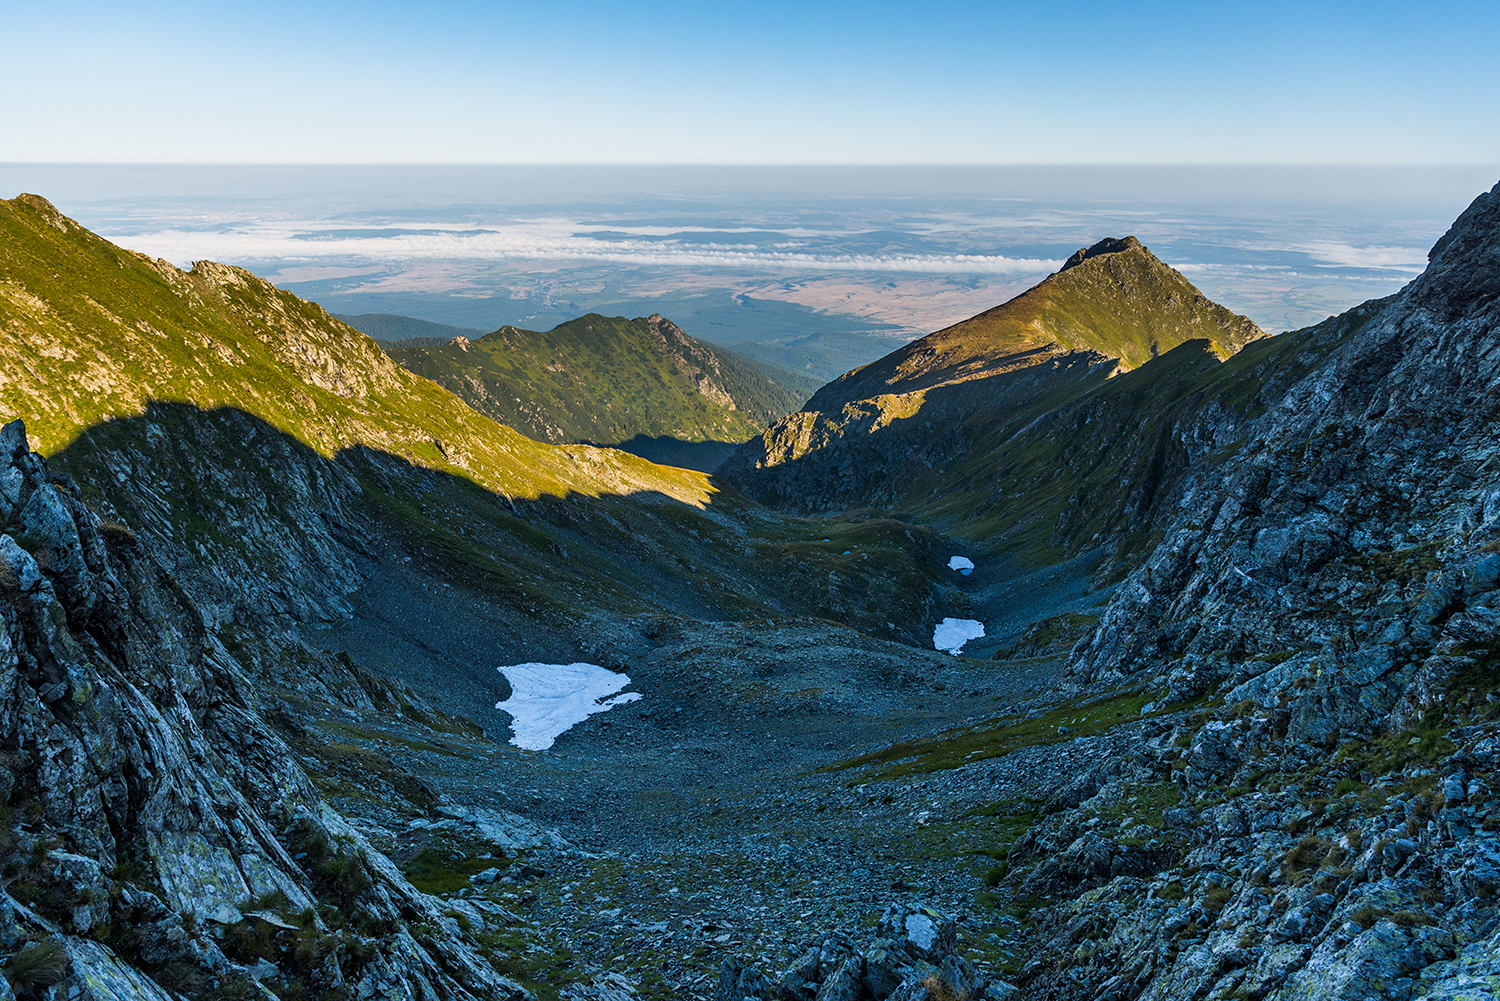
<path id="1" fill-rule="evenodd" d="M 915 479 L 910 497 L 926 497 L 914 506 L 1028 563 L 1106 545 L 1102 573 L 1118 578 L 1191 504 L 1194 477 L 1212 477 L 1245 447 L 1244 428 L 1266 401 L 1358 330 L 1366 306 L 1227 360 L 1210 342 L 1188 341 L 1040 417 L 975 420 L 958 461 Z"/>

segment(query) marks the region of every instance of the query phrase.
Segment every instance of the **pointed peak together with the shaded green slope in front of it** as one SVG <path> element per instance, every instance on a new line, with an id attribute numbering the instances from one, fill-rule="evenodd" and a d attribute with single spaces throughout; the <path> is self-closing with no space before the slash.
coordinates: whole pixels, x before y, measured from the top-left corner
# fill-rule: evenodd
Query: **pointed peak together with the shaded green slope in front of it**
<path id="1" fill-rule="evenodd" d="M 830 383 L 716 476 L 794 510 L 900 510 L 1024 563 L 1108 543 L 1118 572 L 1190 447 L 1226 444 L 1212 438 L 1300 357 L 1293 341 L 1272 347 L 1134 237 L 1102 240 Z M 1210 441 L 1182 441 L 1190 426 Z"/>

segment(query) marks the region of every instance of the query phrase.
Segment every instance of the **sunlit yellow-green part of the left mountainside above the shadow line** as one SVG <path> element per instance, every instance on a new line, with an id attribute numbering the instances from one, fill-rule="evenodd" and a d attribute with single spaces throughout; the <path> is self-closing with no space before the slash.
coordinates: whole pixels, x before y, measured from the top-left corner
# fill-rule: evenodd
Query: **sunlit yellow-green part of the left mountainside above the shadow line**
<path id="1" fill-rule="evenodd" d="M 496 425 L 249 272 L 183 272 L 36 195 L 0 201 L 0 416 L 26 417 L 33 447 L 51 453 L 153 399 L 238 408 L 324 456 L 366 446 L 507 497 L 711 494 L 698 473 Z"/>

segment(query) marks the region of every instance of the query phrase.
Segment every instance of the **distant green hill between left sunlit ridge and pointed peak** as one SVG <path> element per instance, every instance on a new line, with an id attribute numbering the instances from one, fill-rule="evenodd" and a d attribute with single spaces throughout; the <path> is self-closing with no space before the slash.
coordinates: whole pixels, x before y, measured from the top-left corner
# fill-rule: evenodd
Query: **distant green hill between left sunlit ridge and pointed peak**
<path id="1" fill-rule="evenodd" d="M 548 332 L 506 326 L 483 338 L 388 350 L 537 441 L 608 444 L 705 470 L 728 444 L 758 435 L 816 389 L 804 375 L 690 338 L 658 314 L 588 314 Z M 711 447 L 682 447 L 704 443 Z"/>

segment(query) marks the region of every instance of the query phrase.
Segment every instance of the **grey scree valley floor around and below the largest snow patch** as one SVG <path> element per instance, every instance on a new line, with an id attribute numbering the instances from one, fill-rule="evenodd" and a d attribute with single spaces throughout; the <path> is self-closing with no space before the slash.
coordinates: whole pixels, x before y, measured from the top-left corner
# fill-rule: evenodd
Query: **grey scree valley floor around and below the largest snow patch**
<path id="1" fill-rule="evenodd" d="M 1080 567 L 1044 576 L 1056 587 L 1028 593 L 1038 608 L 1098 600 L 1082 594 Z M 436 858 L 426 882 L 429 870 L 416 870 L 417 885 L 488 927 L 513 956 L 510 972 L 543 995 L 590 996 L 585 984 L 608 989 L 612 972 L 645 995 L 710 998 L 726 957 L 776 974 L 831 933 L 862 942 L 892 903 L 956 917 L 963 951 L 1002 977 L 1018 962 L 1022 921 L 996 909 L 986 875 L 993 884 L 996 858 L 1038 803 L 1143 725 L 1144 699 L 1059 710 L 1071 695 L 1060 653 L 1000 662 L 820 620 L 650 615 L 596 623 L 582 645 L 520 635 L 459 584 L 434 599 L 430 578 L 394 566 L 368 579 L 354 618 L 320 641 L 480 720 L 486 735 L 393 728 L 354 710 L 308 720 L 420 776 L 444 806 L 429 822 L 332 782 L 330 800 L 408 872 L 418 855 Z M 998 600 L 993 584 L 975 584 L 986 606 Z M 546 752 L 512 747 L 494 710 L 508 693 L 495 668 L 528 659 L 602 662 L 644 698 L 574 725 Z M 1108 719 L 1086 719 L 1100 707 Z M 996 717 L 1026 731 L 1016 753 L 975 752 L 964 764 L 952 731 L 975 728 L 990 747 Z M 1116 722 L 1134 726 L 1092 735 Z M 1089 735 L 1071 740 L 1066 723 Z M 898 744 L 912 746 L 879 753 Z M 928 755 L 906 756 L 921 749 Z M 506 812 L 556 839 L 500 819 Z M 484 833 L 496 825 L 526 846 L 496 845 Z"/>

